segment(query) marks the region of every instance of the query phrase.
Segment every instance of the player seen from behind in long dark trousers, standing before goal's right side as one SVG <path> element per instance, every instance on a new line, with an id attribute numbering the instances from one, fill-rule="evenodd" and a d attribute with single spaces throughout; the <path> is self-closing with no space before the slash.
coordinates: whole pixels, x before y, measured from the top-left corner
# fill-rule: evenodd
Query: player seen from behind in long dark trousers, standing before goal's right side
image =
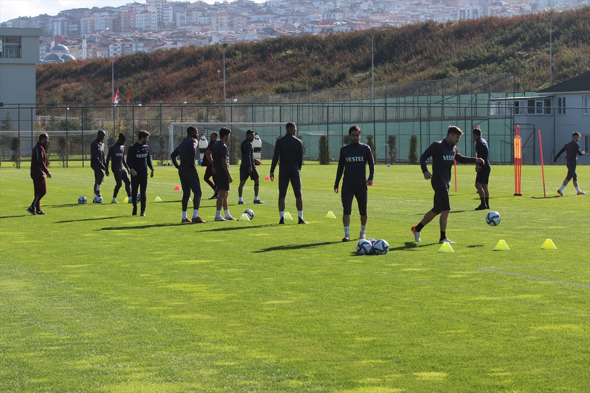
<path id="1" fill-rule="evenodd" d="M 298 224 L 307 224 L 303 220 L 303 197 L 301 197 L 301 165 L 303 165 L 303 143 L 295 136 L 297 126 L 295 123 L 287 123 L 287 133 L 278 138 L 274 144 L 273 162 L 270 166 L 270 180 L 274 181 L 274 169 L 278 164 L 278 214 L 281 217 L 279 224 L 285 223 L 285 197 L 289 182 L 295 194 L 297 206 Z"/>

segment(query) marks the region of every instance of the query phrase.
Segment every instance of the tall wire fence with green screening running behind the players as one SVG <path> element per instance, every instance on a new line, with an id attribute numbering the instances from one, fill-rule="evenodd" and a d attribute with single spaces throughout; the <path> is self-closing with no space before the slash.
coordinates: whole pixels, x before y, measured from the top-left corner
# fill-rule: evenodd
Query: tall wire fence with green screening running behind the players
<path id="1" fill-rule="evenodd" d="M 221 123 L 244 123 L 259 131 L 262 158 L 268 159 L 276 138 L 284 135 L 284 126 L 257 130 L 256 124 L 293 121 L 304 142 L 306 161 L 337 159 L 340 147 L 348 143 L 348 129 L 358 125 L 362 142 L 372 147 L 378 163 L 408 163 L 412 136 L 417 138 L 419 156 L 455 125 L 467 134 L 458 146 L 462 154 L 475 155 L 470 131 L 480 126 L 489 141 L 490 160 L 510 163 L 514 118 L 511 111 L 497 115 L 489 100 L 513 95 L 514 75 L 502 74 L 379 85 L 374 90 L 369 86 L 230 98 L 217 104 L 5 104 L 0 108 L 0 158 L 3 166 L 18 166 L 19 160 L 27 163 L 38 135 L 47 132 L 51 166 L 88 166 L 97 130 L 107 132 L 106 146 L 119 133 L 129 146 L 139 130 L 147 130 L 154 163 L 169 165 L 169 154 L 178 144 L 178 138 L 171 138 L 172 123 L 218 123 L 207 127 L 207 138 L 209 130 L 221 128 Z M 242 131 L 234 138 L 243 138 Z"/>

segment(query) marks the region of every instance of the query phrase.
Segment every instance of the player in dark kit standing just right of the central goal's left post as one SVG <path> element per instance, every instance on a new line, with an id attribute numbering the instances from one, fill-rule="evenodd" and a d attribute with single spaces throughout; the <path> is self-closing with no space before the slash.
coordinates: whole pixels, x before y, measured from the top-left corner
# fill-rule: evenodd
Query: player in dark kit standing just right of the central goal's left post
<path id="1" fill-rule="evenodd" d="M 201 224 L 205 221 L 199 217 L 199 204 L 201 203 L 201 182 L 199 174 L 196 173 L 195 160 L 199 157 L 199 141 L 196 140 L 199 131 L 195 127 L 186 128 L 186 138 L 172 151 L 170 157 L 172 164 L 178 169 L 178 177 L 181 178 L 182 186 L 182 223 Z M 176 157 L 181 156 L 181 163 L 178 164 Z M 186 216 L 188 200 L 191 199 L 191 190 L 194 193 L 192 200 L 192 220 Z"/>

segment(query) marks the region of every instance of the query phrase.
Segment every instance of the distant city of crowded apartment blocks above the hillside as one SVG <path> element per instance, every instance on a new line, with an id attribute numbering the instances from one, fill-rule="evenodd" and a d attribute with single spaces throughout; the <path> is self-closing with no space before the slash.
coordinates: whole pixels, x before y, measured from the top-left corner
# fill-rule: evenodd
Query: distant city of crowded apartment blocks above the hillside
<path id="1" fill-rule="evenodd" d="M 146 0 L 119 7 L 66 9 L 55 16 L 21 16 L 0 27 L 42 29 L 40 60 L 45 63 L 586 5 L 590 0 L 236 0 L 212 5 Z"/>

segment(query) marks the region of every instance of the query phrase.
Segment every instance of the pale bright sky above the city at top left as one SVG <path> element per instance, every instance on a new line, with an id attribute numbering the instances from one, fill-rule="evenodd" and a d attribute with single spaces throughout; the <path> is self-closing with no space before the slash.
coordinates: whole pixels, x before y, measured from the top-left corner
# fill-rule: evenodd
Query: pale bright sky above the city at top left
<path id="1" fill-rule="evenodd" d="M 145 0 L 135 0 L 145 3 Z M 191 0 L 194 2 L 194 0 Z M 215 0 L 204 0 L 213 4 Z M 264 0 L 254 0 L 257 3 Z M 37 16 L 40 14 L 57 15 L 58 12 L 70 8 L 92 8 L 93 6 L 118 7 L 133 0 L 0 0 L 0 21 L 5 22 L 19 16 Z"/>

